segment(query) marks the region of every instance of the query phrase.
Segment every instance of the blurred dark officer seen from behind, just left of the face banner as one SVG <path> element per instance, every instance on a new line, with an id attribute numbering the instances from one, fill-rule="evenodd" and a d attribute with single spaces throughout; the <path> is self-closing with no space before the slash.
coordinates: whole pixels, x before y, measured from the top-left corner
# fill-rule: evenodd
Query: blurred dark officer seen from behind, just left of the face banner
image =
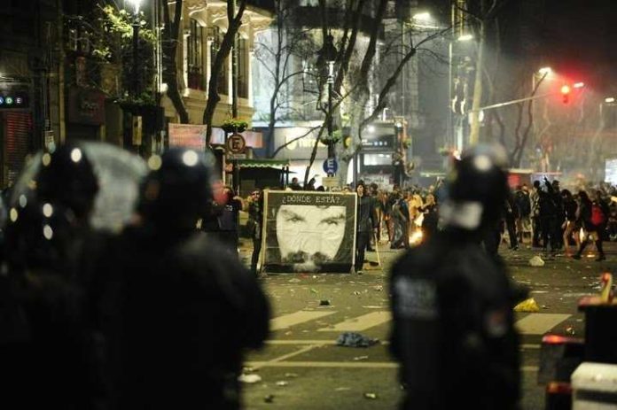
<path id="1" fill-rule="evenodd" d="M 256 279 L 195 230 L 212 199 L 203 154 L 172 149 L 148 161 L 140 222 L 110 258 L 102 304 L 115 409 L 236 409 L 245 348 L 267 337 Z"/>

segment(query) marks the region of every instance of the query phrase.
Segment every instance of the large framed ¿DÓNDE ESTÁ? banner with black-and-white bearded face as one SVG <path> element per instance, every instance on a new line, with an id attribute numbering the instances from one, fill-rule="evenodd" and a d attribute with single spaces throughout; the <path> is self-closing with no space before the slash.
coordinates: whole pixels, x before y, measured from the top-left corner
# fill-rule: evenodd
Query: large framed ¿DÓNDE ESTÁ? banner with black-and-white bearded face
<path id="1" fill-rule="evenodd" d="M 265 264 L 279 272 L 336 272 L 351 265 L 355 195 L 268 192 Z"/>

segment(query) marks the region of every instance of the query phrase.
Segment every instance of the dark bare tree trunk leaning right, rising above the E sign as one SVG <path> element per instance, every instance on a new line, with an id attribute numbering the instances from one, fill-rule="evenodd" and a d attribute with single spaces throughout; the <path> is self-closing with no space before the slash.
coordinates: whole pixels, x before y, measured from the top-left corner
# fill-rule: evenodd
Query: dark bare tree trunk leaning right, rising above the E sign
<path id="1" fill-rule="evenodd" d="M 221 101 L 218 90 L 216 89 L 219 74 L 223 70 L 223 66 L 227 57 L 230 55 L 234 40 L 238 34 L 238 29 L 242 25 L 242 16 L 246 9 L 246 0 L 239 0 L 238 10 L 236 10 L 236 0 L 227 0 L 227 32 L 223 36 L 221 47 L 216 51 L 215 62 L 212 65 L 210 81 L 207 86 L 207 104 L 204 110 L 203 123 L 207 126 L 206 131 L 206 146 L 210 145 L 212 138 L 212 120 L 215 116 L 216 105 Z"/>

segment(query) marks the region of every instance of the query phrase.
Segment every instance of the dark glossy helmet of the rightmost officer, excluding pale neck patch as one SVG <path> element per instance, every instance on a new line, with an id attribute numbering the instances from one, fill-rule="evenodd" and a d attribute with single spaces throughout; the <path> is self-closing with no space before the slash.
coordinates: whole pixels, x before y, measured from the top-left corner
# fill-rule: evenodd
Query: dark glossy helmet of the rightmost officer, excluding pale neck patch
<path id="1" fill-rule="evenodd" d="M 480 144 L 465 151 L 449 174 L 449 202 L 476 206 L 482 225 L 497 220 L 509 193 L 507 162 L 499 145 Z"/>

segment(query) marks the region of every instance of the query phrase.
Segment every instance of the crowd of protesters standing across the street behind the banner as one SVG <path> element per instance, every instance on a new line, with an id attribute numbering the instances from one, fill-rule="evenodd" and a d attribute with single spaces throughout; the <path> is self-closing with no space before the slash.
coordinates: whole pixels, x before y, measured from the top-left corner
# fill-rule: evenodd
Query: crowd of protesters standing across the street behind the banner
<path id="1" fill-rule="evenodd" d="M 357 185 L 363 186 L 363 195 L 371 198 L 375 211 L 376 235 L 371 236 L 367 251 L 374 250 L 375 240 L 391 249 L 407 249 L 426 241 L 439 228 L 439 205 L 446 196 L 442 180 L 428 187 L 394 185 L 386 189 L 362 180 Z M 518 251 L 519 246 L 538 249 L 546 259 L 559 254 L 581 259 L 592 244 L 597 260 L 604 260 L 603 243 L 617 240 L 617 202 L 611 200 L 617 199 L 617 187 L 601 183 L 568 188 L 560 187 L 558 180 L 538 180 L 531 186 L 523 183 L 513 188 L 504 203 L 499 242 L 512 251 Z M 287 189 L 325 190 L 316 187 L 315 178 L 306 188 L 293 178 Z M 342 191 L 355 189 L 350 184 Z M 255 195 L 259 197 L 260 191 L 246 198 L 246 204 L 251 204 Z"/>

